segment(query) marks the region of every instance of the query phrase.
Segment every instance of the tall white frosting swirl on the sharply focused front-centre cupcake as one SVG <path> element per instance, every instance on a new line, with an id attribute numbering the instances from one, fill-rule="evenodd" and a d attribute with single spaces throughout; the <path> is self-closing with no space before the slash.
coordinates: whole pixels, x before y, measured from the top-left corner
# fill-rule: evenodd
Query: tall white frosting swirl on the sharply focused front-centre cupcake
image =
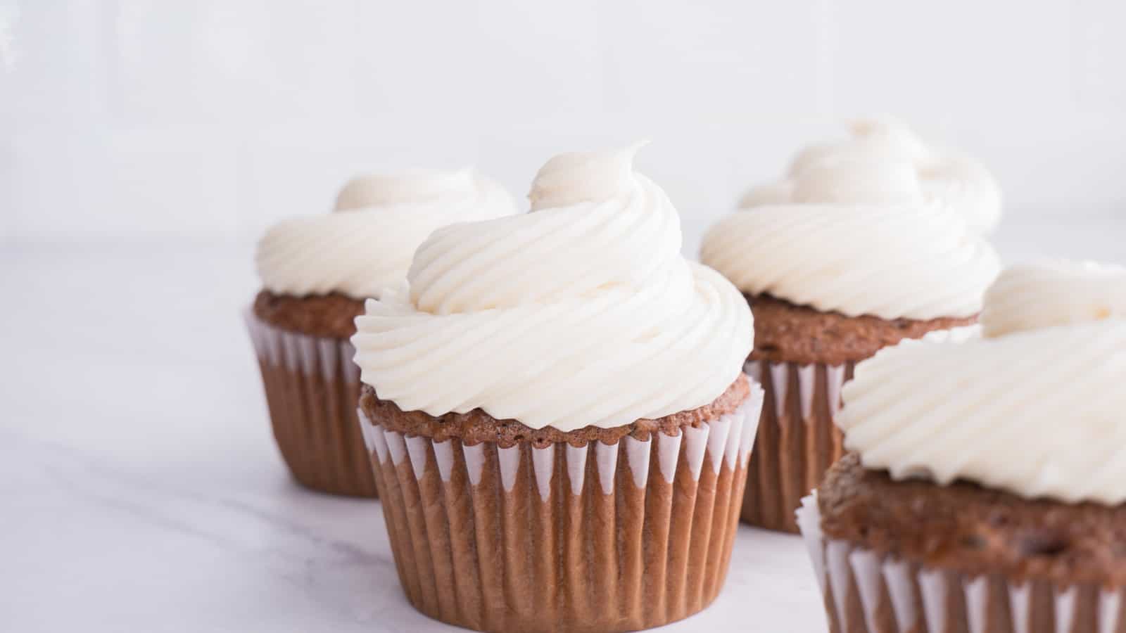
<path id="1" fill-rule="evenodd" d="M 533 213 L 436 231 L 409 288 L 356 320 L 363 381 L 404 410 L 563 431 L 718 398 L 751 350 L 750 311 L 680 255 L 677 211 L 635 151 L 556 157 Z"/>

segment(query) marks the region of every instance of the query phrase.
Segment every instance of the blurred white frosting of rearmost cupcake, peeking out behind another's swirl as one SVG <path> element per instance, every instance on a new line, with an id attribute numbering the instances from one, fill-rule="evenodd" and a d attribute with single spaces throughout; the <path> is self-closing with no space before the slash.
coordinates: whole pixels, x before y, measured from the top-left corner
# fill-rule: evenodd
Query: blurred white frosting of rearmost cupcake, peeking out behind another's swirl
<path id="1" fill-rule="evenodd" d="M 1001 189 L 977 160 L 960 153 L 930 148 L 908 127 L 890 121 L 864 121 L 852 125 L 852 137 L 803 150 L 790 162 L 786 178 L 752 188 L 740 208 L 801 202 L 788 196 L 794 180 L 825 162 L 861 160 L 909 169 L 917 176 L 921 198 L 962 215 L 971 231 L 992 232 L 1001 220 Z M 840 203 L 870 203 L 873 199 L 840 199 Z"/>

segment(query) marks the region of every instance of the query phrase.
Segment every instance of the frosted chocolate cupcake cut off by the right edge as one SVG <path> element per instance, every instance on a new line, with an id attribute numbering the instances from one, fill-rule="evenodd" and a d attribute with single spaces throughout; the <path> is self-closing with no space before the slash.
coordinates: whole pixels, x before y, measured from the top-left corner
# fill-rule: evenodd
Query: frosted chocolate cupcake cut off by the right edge
<path id="1" fill-rule="evenodd" d="M 830 630 L 1126 627 L 1126 268 L 1004 271 L 985 338 L 857 367 L 798 512 Z"/>

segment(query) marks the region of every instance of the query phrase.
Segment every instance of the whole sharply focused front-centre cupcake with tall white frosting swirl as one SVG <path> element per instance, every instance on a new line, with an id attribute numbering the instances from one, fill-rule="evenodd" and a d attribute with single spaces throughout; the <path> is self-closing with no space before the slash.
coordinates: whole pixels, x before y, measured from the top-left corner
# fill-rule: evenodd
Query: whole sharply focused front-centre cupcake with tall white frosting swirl
<path id="1" fill-rule="evenodd" d="M 432 618 L 634 631 L 723 585 L 762 403 L 751 313 L 680 255 L 635 151 L 552 159 L 531 213 L 436 231 L 356 320 L 395 565 Z"/>

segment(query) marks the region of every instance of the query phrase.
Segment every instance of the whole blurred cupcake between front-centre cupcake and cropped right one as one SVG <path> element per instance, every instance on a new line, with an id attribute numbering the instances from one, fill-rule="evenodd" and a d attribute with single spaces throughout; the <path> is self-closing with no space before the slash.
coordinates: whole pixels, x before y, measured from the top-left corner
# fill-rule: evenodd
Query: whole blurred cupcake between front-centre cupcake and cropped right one
<path id="1" fill-rule="evenodd" d="M 811 164 L 785 200 L 723 219 L 701 252 L 754 312 L 747 372 L 767 402 L 743 520 L 786 532 L 842 454 L 833 417 L 854 365 L 902 339 L 974 324 L 1000 268 L 913 161 L 855 151 L 798 162 Z"/>

